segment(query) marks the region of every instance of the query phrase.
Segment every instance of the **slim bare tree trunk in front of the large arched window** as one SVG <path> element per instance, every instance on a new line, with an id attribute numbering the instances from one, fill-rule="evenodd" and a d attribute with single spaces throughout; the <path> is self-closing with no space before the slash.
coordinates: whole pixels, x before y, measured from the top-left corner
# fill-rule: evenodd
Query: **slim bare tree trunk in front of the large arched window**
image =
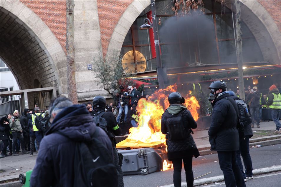
<path id="1" fill-rule="evenodd" d="M 236 55 L 238 64 L 238 84 L 240 90 L 240 98 L 245 100 L 244 79 L 243 79 L 243 56 L 242 56 L 242 30 L 241 30 L 241 8 L 240 2 L 235 0 L 235 28 L 236 28 Z"/>

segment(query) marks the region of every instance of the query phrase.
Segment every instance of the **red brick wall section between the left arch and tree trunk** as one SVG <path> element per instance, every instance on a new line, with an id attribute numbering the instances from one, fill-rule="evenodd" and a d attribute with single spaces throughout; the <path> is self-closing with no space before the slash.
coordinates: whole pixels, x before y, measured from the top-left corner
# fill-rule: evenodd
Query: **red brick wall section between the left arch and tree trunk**
<path id="1" fill-rule="evenodd" d="M 20 0 L 49 27 L 66 53 L 66 1 Z"/>

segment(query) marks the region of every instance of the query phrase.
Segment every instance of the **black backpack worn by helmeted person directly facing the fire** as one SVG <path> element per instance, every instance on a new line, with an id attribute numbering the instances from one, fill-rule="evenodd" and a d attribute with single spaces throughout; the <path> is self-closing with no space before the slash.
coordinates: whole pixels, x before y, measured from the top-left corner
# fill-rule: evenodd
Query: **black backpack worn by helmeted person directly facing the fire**
<path id="1" fill-rule="evenodd" d="M 170 114 L 166 110 L 163 115 L 167 117 L 167 138 L 172 141 L 184 140 L 188 137 L 189 129 L 186 129 L 183 120 L 181 119 L 185 109 L 178 114 Z"/>

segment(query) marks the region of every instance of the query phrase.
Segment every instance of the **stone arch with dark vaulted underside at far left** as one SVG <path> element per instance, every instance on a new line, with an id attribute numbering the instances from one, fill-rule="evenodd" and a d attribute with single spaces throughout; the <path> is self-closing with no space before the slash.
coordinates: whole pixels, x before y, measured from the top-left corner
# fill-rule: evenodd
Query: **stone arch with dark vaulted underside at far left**
<path id="1" fill-rule="evenodd" d="M 48 26 L 21 1 L 1 0 L 1 58 L 20 89 L 55 86 L 67 93 L 66 55 Z"/>

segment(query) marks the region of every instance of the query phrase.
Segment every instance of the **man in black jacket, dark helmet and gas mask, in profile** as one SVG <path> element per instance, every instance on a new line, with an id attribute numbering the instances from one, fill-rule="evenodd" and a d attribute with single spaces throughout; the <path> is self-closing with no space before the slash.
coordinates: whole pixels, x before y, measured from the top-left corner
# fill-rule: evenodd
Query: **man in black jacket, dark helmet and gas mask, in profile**
<path id="1" fill-rule="evenodd" d="M 219 166 L 224 173 L 224 181 L 229 186 L 246 186 L 242 173 L 236 163 L 239 150 L 238 109 L 235 101 L 226 93 L 224 81 L 214 81 L 209 86 L 209 100 L 213 106 L 209 142 L 211 150 L 218 152 Z M 228 97 L 228 98 L 227 98 Z"/>

